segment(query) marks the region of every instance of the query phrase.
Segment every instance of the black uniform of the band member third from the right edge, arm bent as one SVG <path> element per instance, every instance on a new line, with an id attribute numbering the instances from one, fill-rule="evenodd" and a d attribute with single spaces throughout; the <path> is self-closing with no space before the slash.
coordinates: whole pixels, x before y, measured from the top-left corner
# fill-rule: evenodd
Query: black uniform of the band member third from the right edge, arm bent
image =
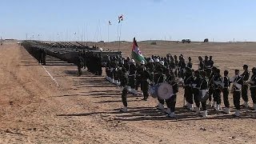
<path id="1" fill-rule="evenodd" d="M 243 85 L 243 79 L 241 76 L 237 75 L 236 78 L 234 78 L 234 82 L 238 83 L 241 86 Z M 236 110 L 240 110 L 241 88 L 234 86 L 233 90 L 234 107 L 236 108 Z"/>

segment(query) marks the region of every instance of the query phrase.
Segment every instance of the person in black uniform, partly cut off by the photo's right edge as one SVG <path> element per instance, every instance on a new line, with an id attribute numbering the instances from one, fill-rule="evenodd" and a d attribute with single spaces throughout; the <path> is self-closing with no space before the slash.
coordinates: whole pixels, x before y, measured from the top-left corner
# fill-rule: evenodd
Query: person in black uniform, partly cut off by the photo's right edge
<path id="1" fill-rule="evenodd" d="M 250 94 L 254 102 L 254 110 L 256 111 L 256 67 L 252 68 L 253 75 L 250 78 Z"/>

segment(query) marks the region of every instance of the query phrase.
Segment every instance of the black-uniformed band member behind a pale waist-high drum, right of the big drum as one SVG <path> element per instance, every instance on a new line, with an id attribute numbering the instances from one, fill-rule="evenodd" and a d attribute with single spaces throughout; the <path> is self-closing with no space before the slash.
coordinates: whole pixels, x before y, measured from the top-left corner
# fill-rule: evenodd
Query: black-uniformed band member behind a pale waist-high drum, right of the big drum
<path id="1" fill-rule="evenodd" d="M 202 72 L 202 82 L 200 85 L 200 92 L 202 93 L 202 90 L 208 90 L 208 79 L 206 77 L 206 72 L 203 71 Z M 206 106 L 206 101 L 205 102 L 201 102 L 202 105 L 202 117 L 203 118 L 207 118 L 207 106 Z"/>

